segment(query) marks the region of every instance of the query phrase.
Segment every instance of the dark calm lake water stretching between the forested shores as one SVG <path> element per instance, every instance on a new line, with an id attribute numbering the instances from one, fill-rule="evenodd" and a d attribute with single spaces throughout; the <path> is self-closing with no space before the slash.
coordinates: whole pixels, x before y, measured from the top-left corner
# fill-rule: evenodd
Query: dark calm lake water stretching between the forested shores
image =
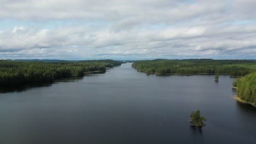
<path id="1" fill-rule="evenodd" d="M 256 109 L 232 98 L 233 80 L 146 75 L 126 63 L 0 93 L 0 143 L 255 143 Z M 188 122 L 198 109 L 202 129 Z"/>

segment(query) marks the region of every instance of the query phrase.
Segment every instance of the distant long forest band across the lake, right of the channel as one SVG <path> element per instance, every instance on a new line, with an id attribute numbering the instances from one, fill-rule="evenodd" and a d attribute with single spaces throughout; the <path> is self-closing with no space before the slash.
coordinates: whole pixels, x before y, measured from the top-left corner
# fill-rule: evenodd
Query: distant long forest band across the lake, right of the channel
<path id="1" fill-rule="evenodd" d="M 228 74 L 245 76 L 256 70 L 256 61 L 252 60 L 213 60 L 213 59 L 155 59 L 152 61 L 137 61 L 133 68 L 147 74 Z"/>

